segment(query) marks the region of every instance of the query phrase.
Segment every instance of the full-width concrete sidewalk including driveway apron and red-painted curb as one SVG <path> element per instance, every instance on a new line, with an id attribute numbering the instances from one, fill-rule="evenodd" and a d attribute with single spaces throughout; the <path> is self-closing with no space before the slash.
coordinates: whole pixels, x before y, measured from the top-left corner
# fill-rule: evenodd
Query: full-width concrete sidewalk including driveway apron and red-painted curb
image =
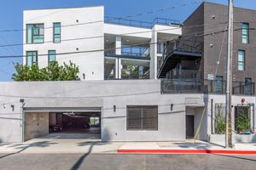
<path id="1" fill-rule="evenodd" d="M 197 140 L 186 142 L 111 142 L 92 139 L 32 139 L 19 144 L 1 144 L 0 153 L 41 154 L 242 154 L 256 155 L 256 144 L 235 144 L 234 149 Z"/>

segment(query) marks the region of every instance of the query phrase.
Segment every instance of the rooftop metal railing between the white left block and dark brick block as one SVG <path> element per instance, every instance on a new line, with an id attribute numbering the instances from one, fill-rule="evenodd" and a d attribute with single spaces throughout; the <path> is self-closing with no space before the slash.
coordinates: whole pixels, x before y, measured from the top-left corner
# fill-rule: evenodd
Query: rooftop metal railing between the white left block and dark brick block
<path id="1" fill-rule="evenodd" d="M 115 17 L 105 17 L 105 23 L 117 24 L 123 26 L 137 26 L 143 28 L 152 28 L 155 24 L 165 25 L 165 26 L 180 26 L 179 20 L 169 20 L 164 18 L 155 18 L 153 22 L 146 22 L 141 20 L 128 20 L 123 18 Z"/>

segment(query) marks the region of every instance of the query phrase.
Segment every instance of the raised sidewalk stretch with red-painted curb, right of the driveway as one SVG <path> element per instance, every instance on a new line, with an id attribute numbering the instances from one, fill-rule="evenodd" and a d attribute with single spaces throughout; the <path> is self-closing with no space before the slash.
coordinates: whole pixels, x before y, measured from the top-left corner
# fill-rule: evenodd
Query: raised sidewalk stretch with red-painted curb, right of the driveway
<path id="1" fill-rule="evenodd" d="M 187 140 L 186 142 L 135 142 L 125 143 L 119 153 L 166 153 L 166 154 L 241 154 L 256 155 L 256 144 L 235 144 L 232 149 L 225 149 L 224 144 L 211 144 L 204 141 Z"/>

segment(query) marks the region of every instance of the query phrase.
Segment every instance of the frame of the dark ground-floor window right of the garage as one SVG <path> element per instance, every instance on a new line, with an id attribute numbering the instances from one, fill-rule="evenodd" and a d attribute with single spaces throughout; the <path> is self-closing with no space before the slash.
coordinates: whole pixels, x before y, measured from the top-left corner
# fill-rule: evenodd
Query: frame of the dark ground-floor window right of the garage
<path id="1" fill-rule="evenodd" d="M 129 127 L 129 109 L 138 109 L 141 110 L 140 114 L 141 114 L 141 118 L 140 118 L 140 128 L 130 128 Z M 143 128 L 143 120 L 145 120 L 146 118 L 144 118 L 143 116 L 143 110 L 147 110 L 147 109 L 156 109 L 156 125 L 153 128 Z M 159 113 L 158 113 L 158 105 L 127 105 L 126 106 L 126 130 L 127 131 L 158 131 L 159 127 Z"/>

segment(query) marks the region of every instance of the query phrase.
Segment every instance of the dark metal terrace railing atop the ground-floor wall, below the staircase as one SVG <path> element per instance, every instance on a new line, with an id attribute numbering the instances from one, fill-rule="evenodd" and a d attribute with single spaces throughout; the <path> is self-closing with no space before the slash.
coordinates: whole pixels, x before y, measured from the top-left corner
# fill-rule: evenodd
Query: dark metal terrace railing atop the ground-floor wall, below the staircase
<path id="1" fill-rule="evenodd" d="M 254 95 L 255 83 L 232 82 L 232 94 Z M 161 79 L 161 94 L 225 94 L 226 81 Z"/>

